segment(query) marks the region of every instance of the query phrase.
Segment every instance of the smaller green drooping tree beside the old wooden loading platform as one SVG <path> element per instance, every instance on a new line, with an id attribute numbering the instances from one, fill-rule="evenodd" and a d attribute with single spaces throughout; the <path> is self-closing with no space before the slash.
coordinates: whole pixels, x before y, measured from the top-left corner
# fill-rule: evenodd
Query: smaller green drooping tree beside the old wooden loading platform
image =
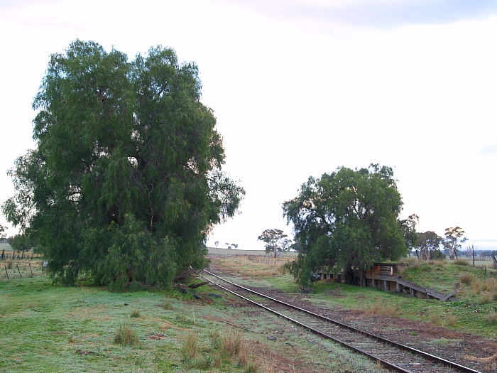
<path id="1" fill-rule="evenodd" d="M 283 211 L 295 230 L 299 256 L 291 270 L 302 285 L 313 271 L 367 270 L 375 261 L 407 254 L 403 223 L 398 220 L 402 198 L 386 166 L 360 170 L 338 168 L 309 178 Z"/>

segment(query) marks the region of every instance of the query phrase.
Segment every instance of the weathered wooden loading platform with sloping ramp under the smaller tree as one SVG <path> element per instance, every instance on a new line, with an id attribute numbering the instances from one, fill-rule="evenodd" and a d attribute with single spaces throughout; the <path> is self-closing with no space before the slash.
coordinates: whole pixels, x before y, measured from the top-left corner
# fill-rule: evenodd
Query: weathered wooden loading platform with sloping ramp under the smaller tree
<path id="1" fill-rule="evenodd" d="M 398 273 L 398 268 L 400 266 L 408 266 L 408 264 L 375 263 L 373 268 L 369 271 L 356 271 L 354 274 L 355 282 L 360 286 L 378 288 L 384 291 L 397 291 L 398 293 L 403 293 L 412 296 L 413 298 L 457 301 L 457 298 L 454 298 L 454 294 L 457 293 L 460 288 L 457 288 L 457 290 L 446 295 L 439 293 L 436 290 L 426 288 L 425 286 L 417 285 L 417 283 L 404 280 L 400 275 L 395 275 L 395 273 Z M 345 281 L 344 273 L 334 274 L 321 271 L 318 274 L 323 280 L 336 279 L 339 282 Z"/>

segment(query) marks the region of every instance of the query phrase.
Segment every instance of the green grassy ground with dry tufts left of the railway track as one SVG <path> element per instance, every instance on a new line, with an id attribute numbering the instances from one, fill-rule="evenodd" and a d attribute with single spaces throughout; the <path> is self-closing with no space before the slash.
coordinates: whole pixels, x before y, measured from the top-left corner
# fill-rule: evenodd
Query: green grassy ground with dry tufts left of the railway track
<path id="1" fill-rule="evenodd" d="M 195 292 L 1 280 L 0 372 L 380 372 L 210 286 Z"/>

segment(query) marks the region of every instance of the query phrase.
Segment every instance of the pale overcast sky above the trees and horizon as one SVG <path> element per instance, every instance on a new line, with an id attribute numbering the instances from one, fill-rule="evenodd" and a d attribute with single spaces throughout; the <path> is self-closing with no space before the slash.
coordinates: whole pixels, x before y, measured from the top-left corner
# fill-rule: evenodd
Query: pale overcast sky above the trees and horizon
<path id="1" fill-rule="evenodd" d="M 50 54 L 76 38 L 130 60 L 160 44 L 199 65 L 225 170 L 246 189 L 209 245 L 293 238 L 281 204 L 309 176 L 380 163 L 419 232 L 460 226 L 497 249 L 497 1 L 4 0 L 0 33 L 1 202 L 6 170 L 34 146 Z"/>

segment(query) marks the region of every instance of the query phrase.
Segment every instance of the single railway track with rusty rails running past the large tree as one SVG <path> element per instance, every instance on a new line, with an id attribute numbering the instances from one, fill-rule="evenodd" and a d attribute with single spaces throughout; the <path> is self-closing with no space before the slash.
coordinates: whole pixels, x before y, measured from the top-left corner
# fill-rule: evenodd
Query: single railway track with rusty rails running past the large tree
<path id="1" fill-rule="evenodd" d="M 301 328 L 310 330 L 315 335 L 333 340 L 354 352 L 366 355 L 371 360 L 381 364 L 382 367 L 393 372 L 480 373 L 470 367 L 464 367 L 456 362 L 445 360 L 442 357 L 428 354 L 413 347 L 401 345 L 378 335 L 340 323 L 337 320 L 332 320 L 324 315 L 318 315 L 305 308 L 280 301 L 246 286 L 223 279 L 210 271 L 204 270 L 204 274 L 207 275 L 202 275 L 204 279 L 215 283 L 224 291 L 285 318 Z"/>

